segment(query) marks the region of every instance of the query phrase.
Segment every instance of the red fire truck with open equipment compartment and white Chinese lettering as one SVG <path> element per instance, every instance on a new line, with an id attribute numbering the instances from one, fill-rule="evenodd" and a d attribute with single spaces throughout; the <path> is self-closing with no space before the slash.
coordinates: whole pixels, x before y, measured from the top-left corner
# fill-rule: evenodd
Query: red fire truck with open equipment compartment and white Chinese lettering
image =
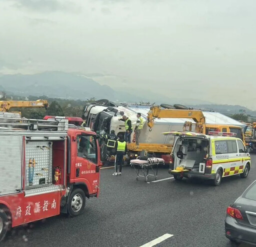
<path id="1" fill-rule="evenodd" d="M 98 136 L 68 119 L 0 118 L 0 240 L 10 227 L 80 214 L 99 194 Z"/>

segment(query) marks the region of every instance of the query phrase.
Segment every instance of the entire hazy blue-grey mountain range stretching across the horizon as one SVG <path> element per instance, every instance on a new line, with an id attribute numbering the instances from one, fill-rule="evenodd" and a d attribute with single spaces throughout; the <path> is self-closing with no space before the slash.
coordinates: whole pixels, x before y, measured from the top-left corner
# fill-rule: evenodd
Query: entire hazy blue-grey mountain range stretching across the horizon
<path id="1" fill-rule="evenodd" d="M 79 73 L 60 71 L 0 75 L 0 90 L 5 91 L 7 94 L 14 93 L 18 96 L 46 95 L 51 98 L 81 100 L 95 97 L 97 99 L 107 98 L 111 101 L 127 103 L 139 103 L 140 101 L 155 104 L 178 103 L 189 107 L 209 108 L 226 114 L 240 113 L 244 110 L 244 113 L 256 116 L 256 111 L 240 105 L 220 105 L 196 98 L 182 98 L 180 95 L 172 95 L 171 90 L 169 97 L 167 97 L 161 93 L 151 91 L 146 86 L 144 89 L 129 87 L 116 87 L 113 89 L 108 85 L 101 85 L 88 76 L 90 75 L 87 74 L 85 76 Z"/>

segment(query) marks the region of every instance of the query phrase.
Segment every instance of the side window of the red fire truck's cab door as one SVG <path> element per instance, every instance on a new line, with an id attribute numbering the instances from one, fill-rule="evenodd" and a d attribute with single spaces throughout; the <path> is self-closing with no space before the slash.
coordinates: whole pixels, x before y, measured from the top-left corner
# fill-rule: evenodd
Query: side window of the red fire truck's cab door
<path id="1" fill-rule="evenodd" d="M 97 163 L 96 141 L 92 135 L 77 136 L 77 156 Z"/>

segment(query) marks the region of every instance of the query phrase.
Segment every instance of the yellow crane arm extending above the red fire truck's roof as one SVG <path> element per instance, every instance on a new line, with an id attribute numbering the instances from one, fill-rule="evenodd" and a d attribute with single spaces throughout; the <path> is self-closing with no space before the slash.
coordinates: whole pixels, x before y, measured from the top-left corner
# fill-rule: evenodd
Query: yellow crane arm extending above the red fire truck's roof
<path id="1" fill-rule="evenodd" d="M 35 101 L 0 100 L 0 111 L 8 111 L 11 107 L 48 107 L 48 101 L 38 99 Z"/>

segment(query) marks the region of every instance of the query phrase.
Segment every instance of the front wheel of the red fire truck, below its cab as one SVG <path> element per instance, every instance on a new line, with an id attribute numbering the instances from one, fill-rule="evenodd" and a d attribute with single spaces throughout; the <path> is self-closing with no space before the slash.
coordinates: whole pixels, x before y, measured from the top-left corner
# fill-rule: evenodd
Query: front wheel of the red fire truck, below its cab
<path id="1" fill-rule="evenodd" d="M 85 206 L 85 194 L 82 189 L 75 188 L 68 200 L 68 213 L 71 217 L 81 214 Z"/>

